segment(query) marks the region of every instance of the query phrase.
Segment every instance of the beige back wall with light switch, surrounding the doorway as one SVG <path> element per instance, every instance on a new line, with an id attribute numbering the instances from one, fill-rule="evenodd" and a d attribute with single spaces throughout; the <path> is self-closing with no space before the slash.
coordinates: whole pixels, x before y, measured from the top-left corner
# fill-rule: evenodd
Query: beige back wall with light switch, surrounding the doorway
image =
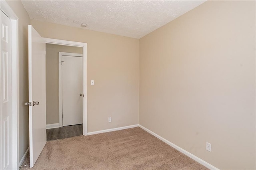
<path id="1" fill-rule="evenodd" d="M 138 39 L 37 20 L 31 24 L 42 37 L 87 43 L 88 132 L 138 124 Z"/>

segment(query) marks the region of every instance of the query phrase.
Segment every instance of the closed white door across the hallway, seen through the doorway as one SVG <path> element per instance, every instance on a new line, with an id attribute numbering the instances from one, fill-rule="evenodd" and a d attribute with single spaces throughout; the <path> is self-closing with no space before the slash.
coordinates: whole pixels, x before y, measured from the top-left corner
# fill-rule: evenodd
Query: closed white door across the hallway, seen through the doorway
<path id="1" fill-rule="evenodd" d="M 63 126 L 83 123 L 83 58 L 62 56 Z"/>

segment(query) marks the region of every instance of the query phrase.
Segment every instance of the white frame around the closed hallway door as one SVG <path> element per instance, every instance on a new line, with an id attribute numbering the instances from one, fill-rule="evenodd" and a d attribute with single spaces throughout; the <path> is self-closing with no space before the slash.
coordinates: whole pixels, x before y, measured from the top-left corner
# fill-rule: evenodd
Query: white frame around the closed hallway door
<path id="1" fill-rule="evenodd" d="M 63 117 L 62 117 L 62 56 L 74 56 L 74 57 L 83 57 L 83 54 L 80 53 L 66 53 L 66 52 L 59 52 L 59 125 L 63 127 Z M 84 97 L 83 97 L 84 98 Z"/>

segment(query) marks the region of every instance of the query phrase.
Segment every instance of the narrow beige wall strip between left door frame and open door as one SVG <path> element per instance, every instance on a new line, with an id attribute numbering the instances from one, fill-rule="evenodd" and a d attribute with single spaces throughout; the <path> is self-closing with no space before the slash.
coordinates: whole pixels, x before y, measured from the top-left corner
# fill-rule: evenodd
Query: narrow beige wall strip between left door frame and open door
<path id="1" fill-rule="evenodd" d="M 19 160 L 26 152 L 28 142 L 28 24 L 30 18 L 21 1 L 6 1 L 19 21 Z"/>

